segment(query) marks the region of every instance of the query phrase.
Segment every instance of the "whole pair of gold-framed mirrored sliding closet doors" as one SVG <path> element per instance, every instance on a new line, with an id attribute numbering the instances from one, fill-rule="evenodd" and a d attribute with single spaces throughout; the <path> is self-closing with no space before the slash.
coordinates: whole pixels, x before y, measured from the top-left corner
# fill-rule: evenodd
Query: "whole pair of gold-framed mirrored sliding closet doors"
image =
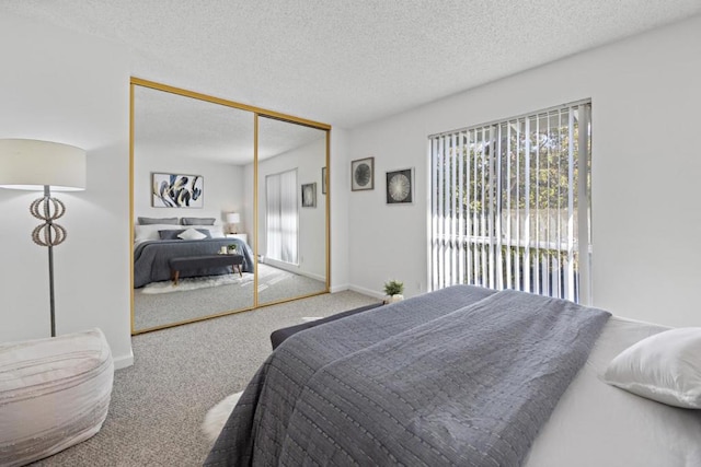
<path id="1" fill-rule="evenodd" d="M 131 113 L 133 334 L 329 291 L 329 126 L 139 79 Z"/>

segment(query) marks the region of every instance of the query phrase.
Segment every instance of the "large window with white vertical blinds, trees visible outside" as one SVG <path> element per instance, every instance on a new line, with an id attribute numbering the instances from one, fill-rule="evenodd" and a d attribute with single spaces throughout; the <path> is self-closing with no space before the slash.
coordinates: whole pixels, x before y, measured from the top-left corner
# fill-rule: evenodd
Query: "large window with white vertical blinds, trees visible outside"
<path id="1" fill-rule="evenodd" d="M 590 303 L 590 102 L 429 138 L 430 283 Z"/>

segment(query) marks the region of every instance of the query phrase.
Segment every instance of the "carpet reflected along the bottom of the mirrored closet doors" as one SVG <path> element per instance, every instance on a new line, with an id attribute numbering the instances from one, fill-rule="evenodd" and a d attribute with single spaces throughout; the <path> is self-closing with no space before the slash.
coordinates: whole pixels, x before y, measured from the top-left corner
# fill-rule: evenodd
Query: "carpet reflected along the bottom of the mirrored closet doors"
<path id="1" fill-rule="evenodd" d="M 326 284 L 321 281 L 269 265 L 258 264 L 258 271 L 260 303 L 309 295 L 322 292 L 326 288 Z M 150 294 L 145 293 L 148 287 L 136 289 L 134 291 L 134 328 L 143 330 L 231 310 L 250 308 L 253 306 L 253 276 L 250 273 L 243 276 L 242 279 L 239 279 L 238 273 L 219 276 L 218 278 L 232 278 L 235 283 L 183 292 Z M 200 281 L 200 278 L 182 279 L 181 285 L 196 281 Z M 168 290 L 177 290 L 181 287 L 173 287 L 171 281 L 150 285 Z"/>

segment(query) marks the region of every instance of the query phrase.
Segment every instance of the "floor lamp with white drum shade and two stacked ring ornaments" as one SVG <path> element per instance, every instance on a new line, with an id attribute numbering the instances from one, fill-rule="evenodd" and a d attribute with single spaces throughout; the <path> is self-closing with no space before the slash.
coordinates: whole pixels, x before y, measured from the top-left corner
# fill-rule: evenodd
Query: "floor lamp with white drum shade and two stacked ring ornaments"
<path id="1" fill-rule="evenodd" d="M 67 232 L 54 222 L 66 213 L 66 206 L 51 197 L 51 189 L 85 189 L 85 151 L 50 141 L 0 139 L 0 188 L 44 190 L 44 196 L 30 205 L 32 215 L 44 221 L 32 232 L 32 240 L 48 248 L 51 337 L 56 337 L 54 246 L 66 240 Z"/>

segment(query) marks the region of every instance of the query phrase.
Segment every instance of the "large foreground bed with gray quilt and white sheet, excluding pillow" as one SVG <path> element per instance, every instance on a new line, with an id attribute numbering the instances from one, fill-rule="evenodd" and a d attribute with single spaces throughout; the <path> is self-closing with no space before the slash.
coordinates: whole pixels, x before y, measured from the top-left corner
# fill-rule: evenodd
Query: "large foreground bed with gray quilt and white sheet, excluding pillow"
<path id="1" fill-rule="evenodd" d="M 205 465 L 701 465 L 700 410 L 601 381 L 665 330 L 468 285 L 344 317 L 271 354 Z"/>

